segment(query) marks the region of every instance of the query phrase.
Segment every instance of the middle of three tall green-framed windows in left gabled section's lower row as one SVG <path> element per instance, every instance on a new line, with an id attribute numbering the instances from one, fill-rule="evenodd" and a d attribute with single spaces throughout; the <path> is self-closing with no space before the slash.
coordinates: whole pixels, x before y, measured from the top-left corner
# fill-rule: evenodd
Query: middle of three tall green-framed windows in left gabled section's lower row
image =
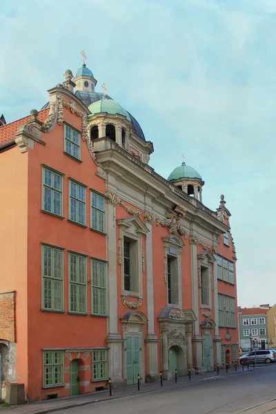
<path id="1" fill-rule="evenodd" d="M 69 253 L 69 311 L 86 313 L 86 257 Z"/>

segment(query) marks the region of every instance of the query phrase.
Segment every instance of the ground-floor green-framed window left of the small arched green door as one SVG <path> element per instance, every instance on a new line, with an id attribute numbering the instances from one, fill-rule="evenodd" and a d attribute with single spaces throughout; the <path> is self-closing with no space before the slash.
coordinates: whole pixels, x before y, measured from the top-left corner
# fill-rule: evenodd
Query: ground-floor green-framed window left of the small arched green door
<path id="1" fill-rule="evenodd" d="M 43 351 L 43 386 L 63 384 L 63 351 Z"/>

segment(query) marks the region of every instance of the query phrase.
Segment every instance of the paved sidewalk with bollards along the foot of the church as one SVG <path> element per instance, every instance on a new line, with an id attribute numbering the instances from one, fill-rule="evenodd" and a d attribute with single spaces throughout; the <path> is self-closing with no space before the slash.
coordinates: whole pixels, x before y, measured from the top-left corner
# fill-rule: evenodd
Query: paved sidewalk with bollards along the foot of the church
<path id="1" fill-rule="evenodd" d="M 116 398 L 126 397 L 128 395 L 134 394 L 141 394 L 141 393 L 148 393 L 150 391 L 155 390 L 165 390 L 168 387 L 172 386 L 189 386 L 190 384 L 197 384 L 199 382 L 203 382 L 204 380 L 215 380 L 219 377 L 224 377 L 226 375 L 246 375 L 246 373 L 255 371 L 258 368 L 253 368 L 250 366 L 249 370 L 244 368 L 244 373 L 242 372 L 242 366 L 237 368 L 237 372 L 235 372 L 234 368 L 229 368 L 228 373 L 226 373 L 226 369 L 219 370 L 219 376 L 217 375 L 216 371 L 211 371 L 208 373 L 204 373 L 203 375 L 192 375 L 191 379 L 189 377 L 179 377 L 177 378 L 177 384 L 175 384 L 175 379 L 170 381 L 164 381 L 163 386 L 161 387 L 160 382 L 153 382 L 151 384 L 141 384 L 140 391 L 138 391 L 137 384 L 132 386 L 126 386 L 125 388 L 112 390 L 112 396 L 110 397 L 109 391 L 99 391 L 97 393 L 87 393 L 76 395 L 74 397 L 63 397 L 58 398 L 57 400 L 47 400 L 47 401 L 40 401 L 40 402 L 31 402 L 26 403 L 20 406 L 9 406 L 0 408 L 1 413 L 6 413 L 11 411 L 12 414 L 44 414 L 44 413 L 51 413 L 52 411 L 59 411 L 65 410 L 66 408 L 73 408 L 77 406 L 82 406 L 86 404 L 92 404 L 94 402 L 106 401 L 106 400 L 113 400 Z M 260 412 L 262 413 L 262 412 Z M 255 413 L 254 413 L 255 414 Z M 259 414 L 256 412 L 256 414 Z"/>

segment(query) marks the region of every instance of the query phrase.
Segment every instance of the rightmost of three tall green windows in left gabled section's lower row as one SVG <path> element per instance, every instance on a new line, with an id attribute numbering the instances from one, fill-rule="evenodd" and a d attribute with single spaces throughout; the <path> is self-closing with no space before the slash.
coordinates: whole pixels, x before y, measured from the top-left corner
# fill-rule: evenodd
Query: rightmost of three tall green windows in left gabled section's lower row
<path id="1" fill-rule="evenodd" d="M 106 263 L 91 260 L 91 286 L 93 315 L 106 315 Z"/>

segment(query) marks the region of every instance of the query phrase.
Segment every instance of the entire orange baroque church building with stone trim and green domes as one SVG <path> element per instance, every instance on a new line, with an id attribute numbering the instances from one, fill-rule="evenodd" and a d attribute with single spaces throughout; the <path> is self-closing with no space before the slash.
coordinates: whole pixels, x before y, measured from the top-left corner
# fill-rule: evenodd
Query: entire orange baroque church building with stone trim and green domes
<path id="1" fill-rule="evenodd" d="M 185 163 L 158 175 L 152 142 L 85 63 L 64 76 L 39 112 L 0 126 L 2 396 L 9 382 L 43 400 L 230 366 L 224 196 L 206 207 Z"/>

